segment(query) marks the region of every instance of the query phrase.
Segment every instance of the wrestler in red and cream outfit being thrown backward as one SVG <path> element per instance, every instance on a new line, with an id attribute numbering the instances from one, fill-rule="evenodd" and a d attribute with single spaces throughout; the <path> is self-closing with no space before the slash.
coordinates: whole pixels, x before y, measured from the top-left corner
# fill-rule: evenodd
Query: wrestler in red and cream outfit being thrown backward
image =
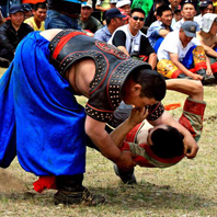
<path id="1" fill-rule="evenodd" d="M 175 80 L 170 83 L 170 90 L 189 95 L 179 123 L 192 134 L 195 141 L 198 141 L 206 106 L 203 101 L 202 83 L 193 80 L 182 80 L 179 81 L 178 85 Z M 140 117 L 144 118 L 142 113 L 144 111 L 133 110 L 130 117 L 111 133 L 114 142 L 122 151 L 130 151 L 134 161 L 140 167 L 168 168 L 180 162 L 184 158 L 182 134 L 176 128 L 168 125 L 152 127 L 146 119 L 141 122 Z M 146 115 L 148 115 L 147 112 Z M 134 125 L 136 121 L 139 124 L 127 133 L 128 126 Z M 136 184 L 134 170 L 125 172 L 118 169 L 117 165 L 114 165 L 114 170 L 124 183 Z"/>

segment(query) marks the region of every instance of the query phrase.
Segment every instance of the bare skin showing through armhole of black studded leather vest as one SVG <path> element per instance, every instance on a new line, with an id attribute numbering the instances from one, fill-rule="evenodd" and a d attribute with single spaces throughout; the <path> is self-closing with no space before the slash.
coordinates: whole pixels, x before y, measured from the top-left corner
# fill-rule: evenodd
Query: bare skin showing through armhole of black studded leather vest
<path id="1" fill-rule="evenodd" d="M 79 95 L 90 98 L 90 83 L 95 75 L 95 64 L 92 59 L 83 59 L 73 64 L 66 72 L 66 79 Z"/>

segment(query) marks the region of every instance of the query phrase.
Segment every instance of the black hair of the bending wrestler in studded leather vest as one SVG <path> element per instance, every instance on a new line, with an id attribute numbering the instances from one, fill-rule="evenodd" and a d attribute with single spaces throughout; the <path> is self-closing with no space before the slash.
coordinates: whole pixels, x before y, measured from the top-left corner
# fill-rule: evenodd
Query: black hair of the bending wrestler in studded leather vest
<path id="1" fill-rule="evenodd" d="M 141 85 L 141 95 L 161 101 L 165 95 L 165 80 L 155 70 L 137 68 L 132 72 L 132 79 Z"/>

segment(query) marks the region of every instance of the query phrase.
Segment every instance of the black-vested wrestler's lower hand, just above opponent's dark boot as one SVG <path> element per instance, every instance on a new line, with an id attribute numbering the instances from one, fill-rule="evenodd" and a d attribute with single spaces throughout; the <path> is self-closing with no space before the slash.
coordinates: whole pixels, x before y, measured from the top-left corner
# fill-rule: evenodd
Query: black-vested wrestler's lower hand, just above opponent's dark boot
<path id="1" fill-rule="evenodd" d="M 132 151 L 122 151 L 121 158 L 115 163 L 123 171 L 132 170 L 136 165 L 132 159 Z"/>

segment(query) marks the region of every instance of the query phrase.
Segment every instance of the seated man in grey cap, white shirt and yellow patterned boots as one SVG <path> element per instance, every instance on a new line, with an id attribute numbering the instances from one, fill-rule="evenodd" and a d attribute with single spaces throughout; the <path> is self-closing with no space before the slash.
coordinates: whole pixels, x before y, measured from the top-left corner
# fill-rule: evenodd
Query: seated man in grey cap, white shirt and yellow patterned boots
<path id="1" fill-rule="evenodd" d="M 157 70 L 165 78 L 201 80 L 203 84 L 215 82 L 210 62 L 196 38 L 196 23 L 185 21 L 180 31 L 169 33 L 158 49 Z M 191 69 L 191 70 L 190 70 Z"/>

